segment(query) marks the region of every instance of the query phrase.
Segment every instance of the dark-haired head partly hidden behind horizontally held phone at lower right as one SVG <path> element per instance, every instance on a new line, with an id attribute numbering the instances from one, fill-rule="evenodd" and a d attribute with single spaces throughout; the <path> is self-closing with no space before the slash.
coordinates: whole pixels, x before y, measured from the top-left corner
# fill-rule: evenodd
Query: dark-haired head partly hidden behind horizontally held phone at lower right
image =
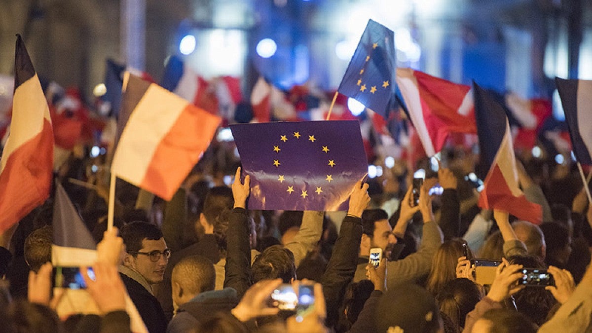
<path id="1" fill-rule="evenodd" d="M 524 268 L 547 268 L 536 255 L 514 255 L 508 258 L 510 264 L 520 264 Z M 541 287 L 526 287 L 512 295 L 516 302 L 518 312 L 523 313 L 535 324 L 542 325 L 547 318 L 549 311 L 557 303 L 555 297 Z"/>

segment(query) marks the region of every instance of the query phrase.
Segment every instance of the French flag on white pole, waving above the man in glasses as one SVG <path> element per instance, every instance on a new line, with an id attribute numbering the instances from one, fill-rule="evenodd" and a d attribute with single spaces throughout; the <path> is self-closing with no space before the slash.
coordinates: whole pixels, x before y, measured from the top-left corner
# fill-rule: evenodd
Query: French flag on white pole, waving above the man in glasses
<path id="1" fill-rule="evenodd" d="M 210 145 L 220 117 L 137 76 L 126 83 L 121 114 L 130 116 L 111 171 L 170 200 Z"/>

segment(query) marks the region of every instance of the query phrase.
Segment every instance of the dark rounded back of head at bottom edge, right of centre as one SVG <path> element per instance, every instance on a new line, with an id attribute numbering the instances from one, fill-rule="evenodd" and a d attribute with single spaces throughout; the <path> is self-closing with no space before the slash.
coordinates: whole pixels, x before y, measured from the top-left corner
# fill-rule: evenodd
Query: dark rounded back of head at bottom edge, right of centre
<path id="1" fill-rule="evenodd" d="M 440 329 L 436 300 L 426 289 L 407 284 L 382 295 L 375 313 L 377 332 L 435 333 Z"/>

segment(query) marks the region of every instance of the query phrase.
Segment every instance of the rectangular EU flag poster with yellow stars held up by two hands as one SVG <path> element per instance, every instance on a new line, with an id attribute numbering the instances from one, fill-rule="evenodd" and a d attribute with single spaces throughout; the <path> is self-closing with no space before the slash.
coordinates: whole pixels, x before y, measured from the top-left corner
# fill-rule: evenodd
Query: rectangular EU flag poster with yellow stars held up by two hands
<path id="1" fill-rule="evenodd" d="M 235 124 L 249 209 L 346 210 L 368 172 L 357 120 Z"/>

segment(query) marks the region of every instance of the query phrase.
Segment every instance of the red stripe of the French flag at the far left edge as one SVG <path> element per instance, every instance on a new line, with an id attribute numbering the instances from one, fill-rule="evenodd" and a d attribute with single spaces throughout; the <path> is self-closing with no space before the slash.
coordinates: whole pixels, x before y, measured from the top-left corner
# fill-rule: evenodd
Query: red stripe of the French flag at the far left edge
<path id="1" fill-rule="evenodd" d="M 0 174 L 0 232 L 10 228 L 49 197 L 53 169 L 52 124 L 15 149 Z"/>

